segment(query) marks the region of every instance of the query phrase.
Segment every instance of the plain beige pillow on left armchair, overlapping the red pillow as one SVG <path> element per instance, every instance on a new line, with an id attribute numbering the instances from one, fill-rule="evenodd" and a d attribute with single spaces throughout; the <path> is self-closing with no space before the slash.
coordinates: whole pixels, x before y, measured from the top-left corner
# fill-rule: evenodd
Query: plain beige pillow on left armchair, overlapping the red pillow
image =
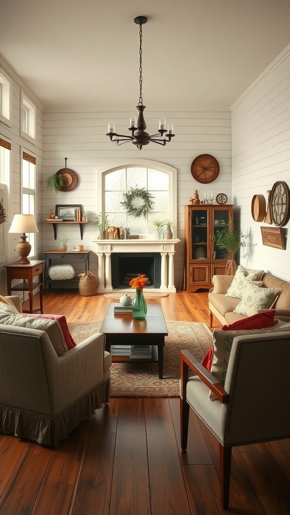
<path id="1" fill-rule="evenodd" d="M 38 329 L 39 331 L 45 331 L 49 336 L 55 352 L 58 356 L 63 356 L 66 353 L 67 346 L 65 338 L 60 329 L 60 325 L 57 320 L 46 320 L 44 318 L 32 318 L 24 317 L 22 314 L 18 315 L 1 313 L 0 323 L 6 325 L 15 325 L 16 327 L 26 327 L 28 329 Z"/>

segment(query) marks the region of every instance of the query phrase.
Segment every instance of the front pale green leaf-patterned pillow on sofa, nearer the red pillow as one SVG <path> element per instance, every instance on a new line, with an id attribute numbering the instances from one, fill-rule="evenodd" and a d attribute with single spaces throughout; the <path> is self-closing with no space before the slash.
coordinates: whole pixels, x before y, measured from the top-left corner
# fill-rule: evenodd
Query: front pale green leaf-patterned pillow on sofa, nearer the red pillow
<path id="1" fill-rule="evenodd" d="M 235 307 L 234 313 L 248 316 L 257 309 L 270 308 L 275 304 L 280 293 L 281 288 L 257 288 L 249 283 L 244 290 L 243 298 Z"/>

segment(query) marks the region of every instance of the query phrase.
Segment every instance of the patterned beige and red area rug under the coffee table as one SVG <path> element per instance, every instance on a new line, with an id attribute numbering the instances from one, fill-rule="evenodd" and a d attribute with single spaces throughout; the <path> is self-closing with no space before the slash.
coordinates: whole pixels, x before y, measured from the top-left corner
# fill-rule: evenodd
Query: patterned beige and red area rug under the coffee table
<path id="1" fill-rule="evenodd" d="M 102 322 L 69 323 L 76 342 L 100 331 Z M 178 397 L 181 349 L 201 360 L 212 345 L 205 323 L 166 321 L 164 379 L 158 379 L 157 363 L 112 363 L 110 397 Z"/>

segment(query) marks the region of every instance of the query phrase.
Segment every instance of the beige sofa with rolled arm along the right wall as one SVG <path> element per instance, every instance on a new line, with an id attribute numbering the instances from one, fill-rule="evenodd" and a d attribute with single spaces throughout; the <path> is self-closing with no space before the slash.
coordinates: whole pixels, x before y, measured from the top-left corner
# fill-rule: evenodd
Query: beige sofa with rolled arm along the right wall
<path id="1" fill-rule="evenodd" d="M 222 325 L 230 324 L 246 315 L 233 313 L 240 299 L 225 297 L 234 276 L 213 276 L 214 287 L 208 293 L 208 308 L 210 316 L 210 326 L 213 325 L 213 315 Z M 283 281 L 271 273 L 265 273 L 263 278 L 264 288 L 281 288 L 282 291 L 273 306 L 275 308 L 275 318 L 290 322 L 290 283 Z"/>

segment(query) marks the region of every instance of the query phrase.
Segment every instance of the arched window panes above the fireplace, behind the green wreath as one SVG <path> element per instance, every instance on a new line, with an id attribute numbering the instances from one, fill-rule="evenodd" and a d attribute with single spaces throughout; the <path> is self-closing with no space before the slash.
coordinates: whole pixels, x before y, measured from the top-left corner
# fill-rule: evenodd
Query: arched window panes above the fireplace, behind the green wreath
<path id="1" fill-rule="evenodd" d="M 126 167 L 109 170 L 104 178 L 103 208 L 110 225 L 130 228 L 131 234 L 154 233 L 152 220 L 172 218 L 172 192 L 169 174 L 147 167 Z M 139 218 L 128 215 L 121 205 L 123 194 L 130 188 L 144 188 L 154 197 L 153 209 L 146 217 Z M 135 207 L 141 199 L 136 199 Z"/>

